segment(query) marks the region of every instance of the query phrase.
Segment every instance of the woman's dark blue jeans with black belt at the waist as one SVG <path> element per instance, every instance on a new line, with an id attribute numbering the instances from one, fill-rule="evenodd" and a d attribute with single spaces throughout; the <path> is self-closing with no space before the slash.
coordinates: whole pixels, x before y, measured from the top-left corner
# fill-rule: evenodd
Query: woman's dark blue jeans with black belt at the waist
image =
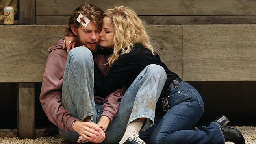
<path id="1" fill-rule="evenodd" d="M 204 111 L 204 102 L 198 91 L 182 81 L 168 95 L 169 111 L 163 112 L 161 98 L 156 104 L 155 123 L 140 133 L 147 144 L 224 144 L 220 127 L 194 127 Z"/>

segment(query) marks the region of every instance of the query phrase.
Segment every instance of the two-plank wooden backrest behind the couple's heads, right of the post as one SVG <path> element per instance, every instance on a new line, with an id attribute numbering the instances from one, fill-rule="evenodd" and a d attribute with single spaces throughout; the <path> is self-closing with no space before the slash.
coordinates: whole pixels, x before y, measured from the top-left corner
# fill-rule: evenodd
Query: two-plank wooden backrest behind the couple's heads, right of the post
<path id="1" fill-rule="evenodd" d="M 36 0 L 36 24 L 67 24 L 83 2 L 129 6 L 147 24 L 256 24 L 254 0 Z"/>

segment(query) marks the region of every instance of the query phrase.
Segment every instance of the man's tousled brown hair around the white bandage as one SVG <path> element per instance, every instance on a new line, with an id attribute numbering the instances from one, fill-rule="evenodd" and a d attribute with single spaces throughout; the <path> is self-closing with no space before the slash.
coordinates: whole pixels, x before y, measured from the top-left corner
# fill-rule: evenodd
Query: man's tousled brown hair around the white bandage
<path id="1" fill-rule="evenodd" d="M 89 20 L 91 20 L 91 22 L 94 22 L 97 28 L 102 27 L 102 18 L 103 18 L 102 16 L 104 11 L 100 7 L 94 6 L 89 3 L 84 3 L 79 5 L 74 10 L 72 15 L 69 17 L 69 24 L 68 24 L 68 27 L 65 29 L 66 36 L 76 37 L 76 35 L 74 35 L 74 33 L 72 32 L 71 27 L 74 27 L 76 29 L 79 28 L 80 23 L 76 21 L 76 19 L 78 18 L 80 13 L 85 17 L 87 17 Z"/>

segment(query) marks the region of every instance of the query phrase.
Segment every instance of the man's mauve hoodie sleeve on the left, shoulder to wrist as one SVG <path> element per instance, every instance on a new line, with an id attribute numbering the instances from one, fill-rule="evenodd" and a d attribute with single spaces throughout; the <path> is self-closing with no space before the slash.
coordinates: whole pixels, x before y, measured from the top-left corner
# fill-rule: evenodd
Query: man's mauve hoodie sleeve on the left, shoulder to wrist
<path id="1" fill-rule="evenodd" d="M 67 54 L 63 55 L 61 51 L 61 49 L 53 50 L 48 56 L 43 74 L 40 102 L 43 111 L 53 124 L 65 131 L 73 131 L 71 124 L 78 119 L 74 118 L 71 112 L 65 110 L 61 104 L 61 89 L 67 59 Z"/>

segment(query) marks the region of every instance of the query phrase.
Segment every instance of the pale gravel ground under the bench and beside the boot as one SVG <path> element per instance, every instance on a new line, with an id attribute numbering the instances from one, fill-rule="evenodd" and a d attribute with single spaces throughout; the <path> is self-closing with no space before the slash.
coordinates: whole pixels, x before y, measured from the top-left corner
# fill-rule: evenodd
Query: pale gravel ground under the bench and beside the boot
<path id="1" fill-rule="evenodd" d="M 243 133 L 246 144 L 256 144 L 256 127 L 236 126 L 236 128 Z M 0 129 L 0 144 L 67 144 L 57 133 L 58 129 L 35 129 L 36 138 L 32 140 L 17 138 L 17 129 Z"/>

